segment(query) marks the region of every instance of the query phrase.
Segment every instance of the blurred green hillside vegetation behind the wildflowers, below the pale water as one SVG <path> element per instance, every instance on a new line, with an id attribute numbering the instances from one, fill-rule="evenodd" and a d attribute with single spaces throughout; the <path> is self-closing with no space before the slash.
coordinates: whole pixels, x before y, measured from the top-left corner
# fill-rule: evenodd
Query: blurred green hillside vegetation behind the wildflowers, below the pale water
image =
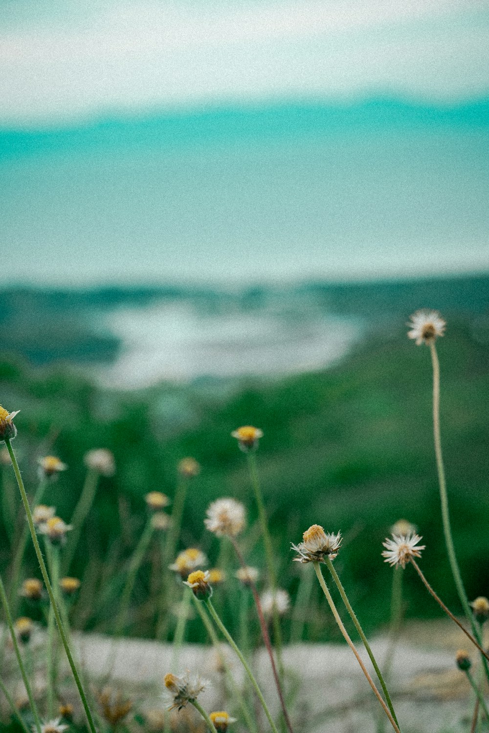
<path id="1" fill-rule="evenodd" d="M 430 354 L 408 341 L 403 320 L 372 330 L 361 348 L 333 369 L 280 380 L 201 380 L 119 392 L 101 390 L 68 367 L 39 371 L 1 358 L 0 402 L 21 410 L 14 448 L 31 496 L 37 458 L 59 456 L 69 470 L 50 485 L 46 501 L 70 520 L 84 482 L 84 453 L 98 447 L 114 452 L 117 474 L 100 479 L 70 573 L 84 580 L 73 608 L 75 625 L 111 630 L 125 561 L 145 522 L 144 494 L 161 490 L 174 496 L 177 462 L 188 455 L 201 463 L 202 472 L 188 490 L 180 547 L 198 545 L 211 564 L 229 564 L 232 554 L 205 531 L 203 518 L 214 498 L 234 496 L 249 510 L 250 528 L 241 540 L 246 557 L 265 567 L 246 460 L 230 436 L 240 424 L 264 431 L 257 460 L 279 583 L 293 597 L 301 575 L 312 567 L 292 562 L 290 542 L 319 523 L 345 535 L 335 564 L 362 624 L 370 632 L 385 625 L 391 570 L 380 556 L 381 542 L 402 517 L 418 526 L 427 545 L 421 561 L 427 578 L 452 611 L 460 612 L 441 530 Z M 489 595 L 486 335 L 484 320 L 464 317 L 450 320 L 446 336 L 438 339 L 449 502 L 469 598 Z M 12 468 L 2 467 L 2 496 L 9 496 L 12 480 Z M 15 501 L 18 507 L 16 495 Z M 19 509 L 18 528 L 22 523 Z M 8 577 L 12 554 L 7 529 L 1 526 L 0 562 Z M 128 632 L 136 636 L 154 634 L 155 589 L 161 578 L 157 542 L 155 537 L 133 594 Z M 26 562 L 25 575 L 38 575 L 32 552 Z M 316 585 L 305 638 L 337 639 Z M 177 602 L 180 591 L 175 589 L 169 592 Z M 242 593 L 234 580 L 216 590 L 216 603 L 232 630 Z M 440 613 L 409 567 L 405 600 L 408 616 Z M 290 619 L 284 619 L 286 639 L 289 625 Z M 253 633 L 257 628 L 251 628 Z M 199 619 L 190 623 L 188 638 L 203 638 Z"/>

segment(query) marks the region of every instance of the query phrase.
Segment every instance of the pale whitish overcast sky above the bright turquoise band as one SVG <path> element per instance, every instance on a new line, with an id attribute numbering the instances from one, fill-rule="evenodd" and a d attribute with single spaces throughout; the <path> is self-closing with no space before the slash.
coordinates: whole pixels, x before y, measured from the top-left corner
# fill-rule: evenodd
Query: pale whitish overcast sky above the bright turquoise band
<path id="1" fill-rule="evenodd" d="M 489 88 L 478 0 L 0 0 L 0 125 Z"/>

